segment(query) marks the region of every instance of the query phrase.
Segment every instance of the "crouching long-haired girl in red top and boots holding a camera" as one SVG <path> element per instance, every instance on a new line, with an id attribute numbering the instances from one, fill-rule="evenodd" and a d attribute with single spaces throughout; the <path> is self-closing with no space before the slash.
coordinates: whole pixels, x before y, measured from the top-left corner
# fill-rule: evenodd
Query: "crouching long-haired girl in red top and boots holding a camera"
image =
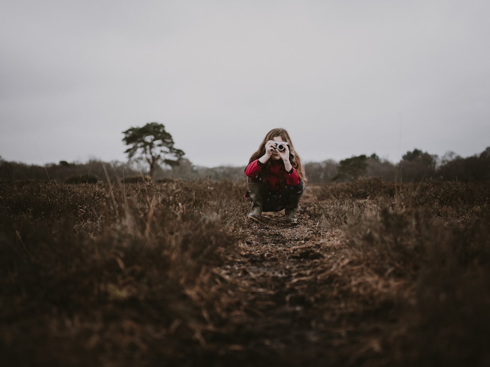
<path id="1" fill-rule="evenodd" d="M 305 171 L 285 129 L 272 129 L 245 168 L 253 210 L 248 218 L 260 221 L 263 211 L 285 209 L 286 221 L 297 223 L 296 210 L 305 190 Z"/>

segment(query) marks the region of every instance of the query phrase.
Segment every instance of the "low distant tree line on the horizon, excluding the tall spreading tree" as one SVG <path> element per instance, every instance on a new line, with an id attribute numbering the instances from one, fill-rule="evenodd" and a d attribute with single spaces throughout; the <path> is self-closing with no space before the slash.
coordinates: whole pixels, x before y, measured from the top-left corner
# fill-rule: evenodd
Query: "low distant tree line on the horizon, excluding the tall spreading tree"
<path id="1" fill-rule="evenodd" d="M 186 158 L 172 167 L 158 165 L 153 181 L 166 180 L 245 180 L 245 166 L 196 166 Z M 490 180 L 490 147 L 482 153 L 463 158 L 447 153 L 439 158 L 419 149 L 407 152 L 398 163 L 381 160 L 376 154 L 360 155 L 342 161 L 326 160 L 305 163 L 311 184 L 348 182 L 359 177 L 380 177 L 387 182 L 423 181 L 486 181 Z M 79 183 L 93 181 L 130 182 L 135 178 L 148 180 L 147 168 L 134 162 L 90 160 L 85 163 L 60 161 L 44 166 L 5 161 L 0 157 L 0 179 L 3 180 L 73 180 Z"/>

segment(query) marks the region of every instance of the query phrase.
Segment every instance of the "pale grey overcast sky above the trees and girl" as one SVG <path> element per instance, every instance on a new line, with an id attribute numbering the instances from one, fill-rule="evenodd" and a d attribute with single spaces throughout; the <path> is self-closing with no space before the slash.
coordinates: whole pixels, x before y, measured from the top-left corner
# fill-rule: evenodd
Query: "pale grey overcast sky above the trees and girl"
<path id="1" fill-rule="evenodd" d="M 488 0 L 1 0 L 0 156 L 125 161 L 163 123 L 196 165 L 286 128 L 303 161 L 490 146 Z"/>

